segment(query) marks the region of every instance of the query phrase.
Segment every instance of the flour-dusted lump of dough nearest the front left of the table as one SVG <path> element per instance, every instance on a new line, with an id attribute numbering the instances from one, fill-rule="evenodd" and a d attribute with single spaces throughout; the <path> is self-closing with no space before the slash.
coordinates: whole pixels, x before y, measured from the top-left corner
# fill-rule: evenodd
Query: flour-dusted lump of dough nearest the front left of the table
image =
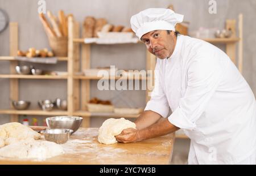
<path id="1" fill-rule="evenodd" d="M 8 158 L 45 160 L 59 154 L 63 154 L 64 150 L 61 145 L 51 141 L 40 141 L 28 138 L 11 143 L 6 147 L 0 148 L 0 156 Z"/>

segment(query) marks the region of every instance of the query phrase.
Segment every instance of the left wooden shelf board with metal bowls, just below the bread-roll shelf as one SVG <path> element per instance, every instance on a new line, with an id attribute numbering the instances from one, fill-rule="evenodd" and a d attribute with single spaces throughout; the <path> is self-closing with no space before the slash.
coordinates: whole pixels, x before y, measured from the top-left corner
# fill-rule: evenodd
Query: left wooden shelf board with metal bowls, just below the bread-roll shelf
<path id="1" fill-rule="evenodd" d="M 67 79 L 67 75 L 0 75 L 0 78 L 10 78 L 10 79 Z"/>

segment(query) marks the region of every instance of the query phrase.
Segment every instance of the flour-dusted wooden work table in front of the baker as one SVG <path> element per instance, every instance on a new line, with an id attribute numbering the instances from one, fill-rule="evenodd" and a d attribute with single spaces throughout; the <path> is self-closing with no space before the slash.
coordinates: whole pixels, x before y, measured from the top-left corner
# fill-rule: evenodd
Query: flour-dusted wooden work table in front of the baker
<path id="1" fill-rule="evenodd" d="M 174 134 L 138 143 L 100 144 L 98 128 L 80 128 L 67 143 L 65 154 L 44 161 L 0 158 L 0 164 L 170 164 Z"/>

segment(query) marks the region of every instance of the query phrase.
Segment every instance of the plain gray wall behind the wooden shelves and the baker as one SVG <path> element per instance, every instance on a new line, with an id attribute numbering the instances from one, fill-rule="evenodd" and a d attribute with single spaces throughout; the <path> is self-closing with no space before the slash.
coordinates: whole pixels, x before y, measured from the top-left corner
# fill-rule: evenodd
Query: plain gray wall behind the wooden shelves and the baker
<path id="1" fill-rule="evenodd" d="M 217 0 L 217 14 L 209 14 L 207 0 L 51 0 L 47 2 L 47 10 L 53 14 L 63 9 L 65 14 L 73 13 L 76 20 L 82 23 L 85 16 L 106 18 L 109 23 L 129 26 L 131 15 L 149 7 L 167 7 L 171 3 L 176 12 L 184 14 L 184 20 L 190 22 L 189 30 L 194 31 L 199 27 L 224 28 L 226 19 L 237 19 L 238 14 L 243 13 L 243 76 L 251 89 L 256 93 L 256 1 L 255 0 Z M 0 8 L 7 11 L 11 22 L 19 23 L 19 49 L 26 50 L 30 47 L 48 48 L 48 41 L 42 24 L 38 18 L 38 1 L 36 0 L 0 0 Z M 223 46 L 221 46 L 223 49 Z M 0 55 L 9 55 L 9 28 L 0 33 Z M 92 67 L 115 65 L 123 69 L 144 69 L 145 48 L 143 45 L 113 45 L 92 47 Z M 26 63 L 21 63 L 26 64 Z M 34 65 L 47 70 L 64 71 L 66 63 L 57 65 Z M 9 73 L 9 62 L 0 63 L 0 74 Z M 30 100 L 31 108 L 36 108 L 38 100 L 46 98 L 66 98 L 67 82 L 65 80 L 19 80 L 20 99 Z M 117 95 L 117 91 L 97 91 L 96 81 L 92 81 L 91 95 L 103 99 L 111 99 Z M 144 91 L 125 91 L 122 95 L 128 101 L 135 102 L 135 106 L 145 106 Z M 0 108 L 9 108 L 9 80 L 0 79 Z M 114 101 L 117 106 L 126 106 L 124 101 Z M 0 124 L 9 121 L 8 115 L 0 114 Z M 104 118 L 92 118 L 91 125 L 98 127 Z"/>

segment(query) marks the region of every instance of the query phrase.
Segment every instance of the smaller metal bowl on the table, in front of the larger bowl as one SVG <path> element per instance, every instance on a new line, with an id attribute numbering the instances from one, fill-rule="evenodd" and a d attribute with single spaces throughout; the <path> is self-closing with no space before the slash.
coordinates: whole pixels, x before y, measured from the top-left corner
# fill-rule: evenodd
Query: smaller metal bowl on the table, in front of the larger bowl
<path id="1" fill-rule="evenodd" d="M 64 144 L 68 141 L 71 132 L 73 130 L 71 129 L 46 129 L 41 131 L 41 133 L 44 135 L 44 139 L 47 141 L 52 141 L 57 144 Z"/>

